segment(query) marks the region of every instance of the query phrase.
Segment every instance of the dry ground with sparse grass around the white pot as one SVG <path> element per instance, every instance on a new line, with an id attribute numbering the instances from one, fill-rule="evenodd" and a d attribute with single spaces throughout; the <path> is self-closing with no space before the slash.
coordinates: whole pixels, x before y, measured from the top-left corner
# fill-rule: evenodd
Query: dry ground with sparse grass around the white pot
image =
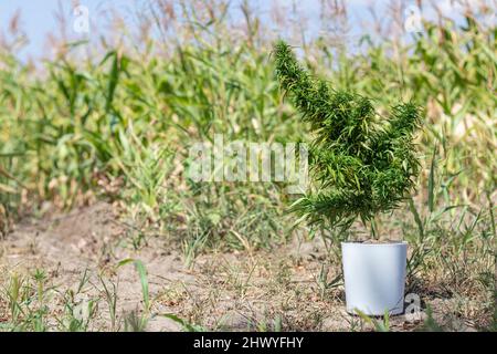
<path id="1" fill-rule="evenodd" d="M 374 330 L 345 312 L 340 262 L 324 249 L 321 239 L 297 238 L 272 250 L 202 254 L 188 268 L 181 251 L 161 238 L 149 236 L 146 246 L 135 250 L 113 207 L 99 204 L 64 219 L 22 225 L 2 242 L 0 325 L 59 331 L 183 329 L 162 316 L 173 313 L 195 330 Z M 118 266 L 124 259 L 145 264 L 148 308 L 137 270 Z M 488 271 L 489 260 L 470 266 L 466 260 L 446 258 L 443 263 L 426 258 L 426 269 L 408 282 L 406 292 L 419 294 L 424 311 L 431 308 L 445 330 L 482 330 L 491 322 L 491 292 L 476 275 Z M 451 272 L 448 261 L 458 270 Z M 134 315 L 140 325 L 131 329 Z M 390 319 L 389 330 L 423 325 L 401 315 Z"/>

